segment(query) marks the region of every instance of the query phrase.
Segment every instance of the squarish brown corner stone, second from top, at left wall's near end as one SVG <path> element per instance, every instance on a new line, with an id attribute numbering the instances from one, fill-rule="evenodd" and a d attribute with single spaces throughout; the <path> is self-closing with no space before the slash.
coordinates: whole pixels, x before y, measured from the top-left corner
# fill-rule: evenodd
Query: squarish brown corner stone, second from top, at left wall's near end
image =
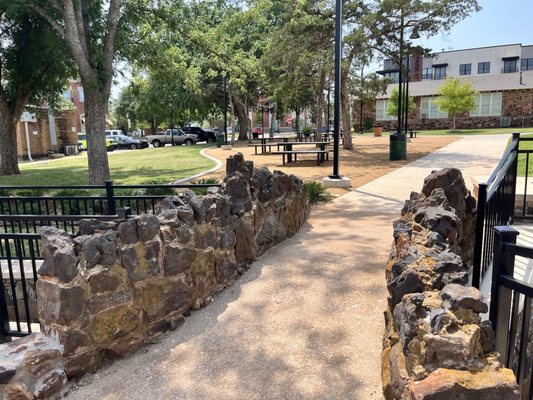
<path id="1" fill-rule="evenodd" d="M 36 289 L 39 318 L 45 323 L 70 325 L 83 313 L 86 296 L 81 287 L 39 279 Z"/>

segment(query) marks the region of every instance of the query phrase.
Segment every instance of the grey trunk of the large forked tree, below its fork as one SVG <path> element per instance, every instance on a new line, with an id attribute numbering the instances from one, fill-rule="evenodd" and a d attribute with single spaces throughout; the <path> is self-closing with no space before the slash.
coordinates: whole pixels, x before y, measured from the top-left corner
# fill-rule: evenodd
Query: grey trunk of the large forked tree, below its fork
<path id="1" fill-rule="evenodd" d="M 87 159 L 89 163 L 89 184 L 103 185 L 111 179 L 105 144 L 105 121 L 109 95 L 91 88 L 82 82 L 85 90 L 85 126 L 87 130 Z"/>

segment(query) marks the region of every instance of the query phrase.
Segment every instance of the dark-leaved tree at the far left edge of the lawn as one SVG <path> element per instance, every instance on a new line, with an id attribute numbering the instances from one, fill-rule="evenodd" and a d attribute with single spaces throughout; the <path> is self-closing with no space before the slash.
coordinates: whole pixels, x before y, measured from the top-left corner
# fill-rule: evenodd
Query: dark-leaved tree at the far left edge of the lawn
<path id="1" fill-rule="evenodd" d="M 25 107 L 52 101 L 75 73 L 65 54 L 46 21 L 0 3 L 0 175 L 20 173 L 16 127 Z"/>

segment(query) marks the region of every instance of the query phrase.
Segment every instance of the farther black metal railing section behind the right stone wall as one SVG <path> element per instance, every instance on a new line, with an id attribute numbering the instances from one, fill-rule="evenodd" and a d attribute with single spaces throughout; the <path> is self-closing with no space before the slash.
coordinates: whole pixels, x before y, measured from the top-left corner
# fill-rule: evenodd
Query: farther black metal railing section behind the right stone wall
<path id="1" fill-rule="evenodd" d="M 494 227 L 507 225 L 514 217 L 519 143 L 520 134 L 513 133 L 500 163 L 487 183 L 478 187 L 472 272 L 472 285 L 477 288 L 492 261 Z"/>

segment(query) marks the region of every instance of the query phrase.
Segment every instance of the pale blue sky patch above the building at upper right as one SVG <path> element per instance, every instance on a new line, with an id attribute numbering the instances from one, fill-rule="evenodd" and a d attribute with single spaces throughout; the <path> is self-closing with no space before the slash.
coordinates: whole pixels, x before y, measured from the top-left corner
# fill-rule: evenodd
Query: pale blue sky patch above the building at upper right
<path id="1" fill-rule="evenodd" d="M 533 0 L 478 0 L 482 10 L 423 45 L 433 51 L 502 44 L 533 45 Z M 422 44 L 422 43 L 420 43 Z"/>

